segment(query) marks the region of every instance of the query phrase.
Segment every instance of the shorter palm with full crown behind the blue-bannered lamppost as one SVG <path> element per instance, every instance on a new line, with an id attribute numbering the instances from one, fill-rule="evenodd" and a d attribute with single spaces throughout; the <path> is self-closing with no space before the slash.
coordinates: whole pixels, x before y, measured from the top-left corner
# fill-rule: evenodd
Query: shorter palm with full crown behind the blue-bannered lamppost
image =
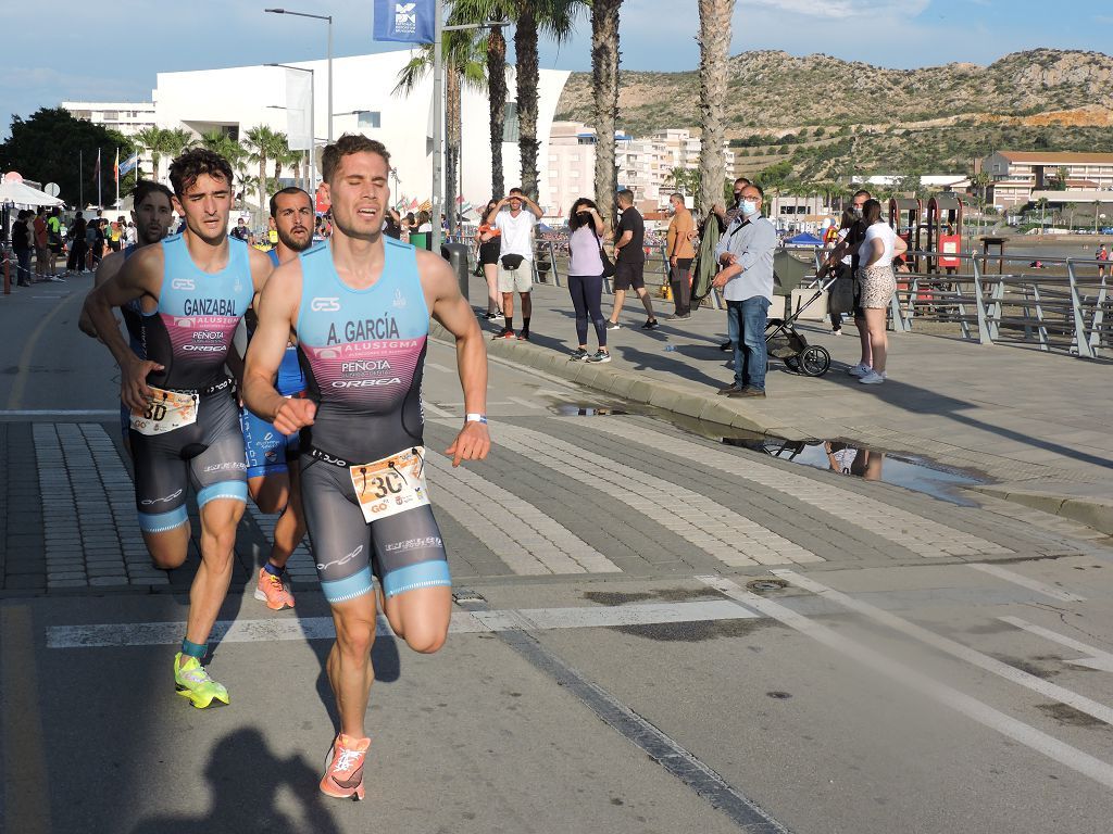
<path id="1" fill-rule="evenodd" d="M 450 18 L 450 22 L 455 23 Z M 486 80 L 486 44 L 476 39 L 475 30 L 445 32 L 441 41 L 445 67 L 445 160 L 444 206 L 449 218 L 449 234 L 456 234 L 456 180 L 460 163 L 460 145 L 463 137 L 461 98 L 464 87 L 482 89 Z M 408 93 L 433 69 L 433 44 L 422 46 L 398 73 L 395 93 Z M 440 218 L 433 218 L 437 222 Z"/>

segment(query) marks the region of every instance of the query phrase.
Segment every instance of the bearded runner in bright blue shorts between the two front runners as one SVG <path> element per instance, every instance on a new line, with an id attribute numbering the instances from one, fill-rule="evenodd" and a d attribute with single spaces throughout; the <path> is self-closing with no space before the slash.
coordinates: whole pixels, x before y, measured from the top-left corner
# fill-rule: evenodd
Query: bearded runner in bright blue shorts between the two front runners
<path id="1" fill-rule="evenodd" d="M 267 252 L 275 266 L 296 258 L 313 245 L 313 202 L 301 188 L 284 188 L 270 198 L 270 217 L 278 242 Z M 244 317 L 248 339 L 255 331 L 255 314 Z M 305 375 L 293 340 L 286 346 L 276 390 L 284 397 L 305 396 Z M 286 576 L 286 563 L 305 537 L 305 516 L 298 488 L 297 435 L 284 435 L 273 424 L 247 408 L 239 409 L 239 425 L 247 451 L 247 492 L 264 513 L 280 513 L 275 523 L 270 556 L 259 568 L 255 598 L 272 610 L 294 607 L 294 590 Z"/>

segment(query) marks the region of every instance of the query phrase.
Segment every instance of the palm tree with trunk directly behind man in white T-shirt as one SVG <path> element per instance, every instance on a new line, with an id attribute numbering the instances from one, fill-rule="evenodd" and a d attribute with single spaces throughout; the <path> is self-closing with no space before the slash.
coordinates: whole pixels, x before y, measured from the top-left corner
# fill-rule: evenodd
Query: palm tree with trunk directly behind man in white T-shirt
<path id="1" fill-rule="evenodd" d="M 522 190 L 538 199 L 538 38 L 545 33 L 558 43 L 572 33 L 581 0 L 515 0 L 514 54 L 518 58 L 518 151 L 522 160 Z M 611 145 L 613 145 L 612 131 Z"/>

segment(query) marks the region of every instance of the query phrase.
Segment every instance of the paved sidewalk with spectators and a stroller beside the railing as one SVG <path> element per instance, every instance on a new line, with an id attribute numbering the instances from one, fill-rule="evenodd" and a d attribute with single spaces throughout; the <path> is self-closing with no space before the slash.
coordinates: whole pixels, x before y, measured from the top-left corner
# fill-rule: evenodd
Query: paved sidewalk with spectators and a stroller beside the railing
<path id="1" fill-rule="evenodd" d="M 473 306 L 485 298 L 479 279 L 471 298 Z M 604 297 L 604 315 L 610 306 Z M 671 302 L 654 299 L 654 306 L 661 327 L 642 330 L 644 311 L 628 299 L 622 329 L 608 332 L 611 363 L 570 363 L 575 326 L 568 291 L 538 285 L 530 342 L 494 340 L 489 351 L 681 419 L 920 455 L 981 475 L 1001 496 L 1113 533 L 1109 361 L 890 334 L 890 378 L 867 387 L 845 373 L 858 360 L 853 325 L 834 336 L 826 325 L 807 324 L 808 340 L 830 351 L 830 370 L 808 378 L 774 360 L 768 399 L 732 400 L 716 396 L 733 374 L 729 354 L 719 350 L 726 314 L 702 308 L 670 322 Z M 492 332 L 493 325 L 501 321 Z"/>

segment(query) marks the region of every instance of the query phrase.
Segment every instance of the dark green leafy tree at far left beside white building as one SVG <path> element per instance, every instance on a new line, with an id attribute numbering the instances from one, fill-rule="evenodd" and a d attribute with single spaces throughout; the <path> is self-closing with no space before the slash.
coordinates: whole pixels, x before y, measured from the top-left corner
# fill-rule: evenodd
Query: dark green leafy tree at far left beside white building
<path id="1" fill-rule="evenodd" d="M 0 170 L 18 171 L 42 185 L 57 182 L 61 198 L 77 205 L 79 196 L 91 199 L 97 193 L 93 166 L 98 148 L 102 181 L 115 191 L 111 172 L 116 149 L 120 159 L 126 159 L 136 143 L 115 130 L 75 119 L 63 108 L 40 108 L 27 119 L 12 117 L 11 136 L 0 143 Z M 83 165 L 79 166 L 79 159 Z M 127 179 L 120 182 L 120 193 L 127 193 Z"/>

